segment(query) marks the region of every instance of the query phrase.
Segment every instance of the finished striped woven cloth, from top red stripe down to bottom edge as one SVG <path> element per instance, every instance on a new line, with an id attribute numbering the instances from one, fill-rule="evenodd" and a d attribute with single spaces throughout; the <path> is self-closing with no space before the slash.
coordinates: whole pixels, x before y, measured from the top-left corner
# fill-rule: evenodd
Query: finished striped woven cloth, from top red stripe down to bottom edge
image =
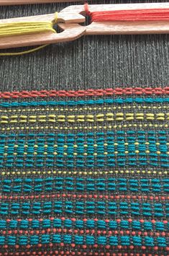
<path id="1" fill-rule="evenodd" d="M 169 88 L 0 94 L 0 255 L 168 255 Z"/>

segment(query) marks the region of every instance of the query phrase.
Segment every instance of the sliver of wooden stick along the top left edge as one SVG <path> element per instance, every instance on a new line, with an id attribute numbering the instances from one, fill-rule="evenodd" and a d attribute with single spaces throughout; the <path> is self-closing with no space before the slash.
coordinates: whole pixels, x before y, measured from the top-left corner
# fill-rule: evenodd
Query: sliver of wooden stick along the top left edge
<path id="1" fill-rule="evenodd" d="M 0 6 L 3 5 L 19 5 L 19 4 L 47 4 L 47 3 L 61 3 L 81 0 L 0 0 Z"/>

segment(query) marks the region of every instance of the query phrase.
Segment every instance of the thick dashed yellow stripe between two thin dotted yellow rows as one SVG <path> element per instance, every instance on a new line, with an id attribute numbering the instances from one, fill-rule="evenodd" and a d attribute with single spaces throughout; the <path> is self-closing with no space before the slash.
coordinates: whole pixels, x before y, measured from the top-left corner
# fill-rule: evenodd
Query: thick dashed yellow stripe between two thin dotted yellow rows
<path id="1" fill-rule="evenodd" d="M 93 123 L 104 121 L 132 121 L 132 120 L 169 120 L 168 113 L 123 113 L 123 112 L 108 112 L 106 114 L 99 113 L 96 115 L 1 115 L 0 123 Z"/>

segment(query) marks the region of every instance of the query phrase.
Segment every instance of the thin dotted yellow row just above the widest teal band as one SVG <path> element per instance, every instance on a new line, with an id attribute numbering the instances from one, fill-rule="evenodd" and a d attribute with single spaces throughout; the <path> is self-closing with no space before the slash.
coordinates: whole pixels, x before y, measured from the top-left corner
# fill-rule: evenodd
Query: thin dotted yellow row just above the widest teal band
<path id="1" fill-rule="evenodd" d="M 111 130 L 111 129 L 123 129 L 123 128 L 168 128 L 168 124 L 157 124 L 157 123 L 129 123 L 122 125 L 92 125 L 92 126 L 53 126 L 53 125 L 36 125 L 36 126 L 13 126 L 0 128 L 0 131 L 20 131 L 20 130 L 65 130 L 65 131 L 75 131 L 75 130 Z"/>

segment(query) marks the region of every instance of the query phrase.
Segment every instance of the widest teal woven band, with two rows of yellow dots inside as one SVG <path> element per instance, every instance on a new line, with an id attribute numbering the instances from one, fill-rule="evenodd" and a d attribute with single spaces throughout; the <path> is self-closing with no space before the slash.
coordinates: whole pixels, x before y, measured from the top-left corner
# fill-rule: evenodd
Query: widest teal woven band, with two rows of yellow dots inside
<path id="1" fill-rule="evenodd" d="M 169 167 L 167 131 L 9 134 L 0 139 L 0 168 Z"/>

